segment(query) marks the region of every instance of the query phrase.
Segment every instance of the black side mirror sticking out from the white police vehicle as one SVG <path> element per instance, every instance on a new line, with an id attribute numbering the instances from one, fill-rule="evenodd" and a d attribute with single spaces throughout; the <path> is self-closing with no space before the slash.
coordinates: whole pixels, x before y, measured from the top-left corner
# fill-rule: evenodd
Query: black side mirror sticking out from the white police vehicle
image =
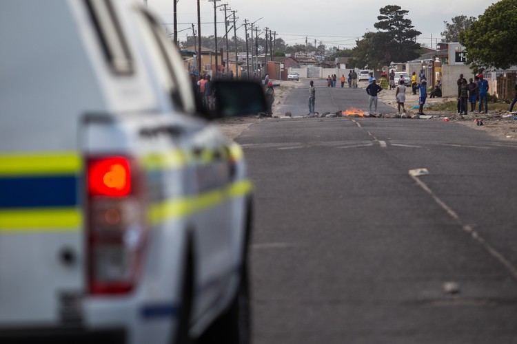
<path id="1" fill-rule="evenodd" d="M 215 109 L 211 118 L 247 116 L 267 111 L 265 94 L 259 83 L 252 81 L 214 81 Z"/>

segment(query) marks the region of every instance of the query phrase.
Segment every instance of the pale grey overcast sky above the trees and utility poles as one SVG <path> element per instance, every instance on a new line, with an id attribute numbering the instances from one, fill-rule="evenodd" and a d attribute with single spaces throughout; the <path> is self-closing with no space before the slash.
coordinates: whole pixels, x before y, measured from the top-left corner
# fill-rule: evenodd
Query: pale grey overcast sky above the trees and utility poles
<path id="1" fill-rule="evenodd" d="M 145 0 L 142 0 L 145 1 Z M 173 1 L 174 0 L 147 0 L 148 7 L 159 14 L 163 23 L 172 32 Z M 244 19 L 251 23 L 256 22 L 259 30 L 265 27 L 276 31 L 276 37 L 281 37 L 285 43 L 294 45 L 305 43 L 305 36 L 314 45 L 316 39 L 327 47 L 354 47 L 356 39 L 367 31 L 376 31 L 379 9 L 387 5 L 398 5 L 408 10 L 407 18 L 412 20 L 414 28 L 422 34 L 418 43 L 436 47 L 440 41 L 440 32 L 445 30 L 444 21 L 451 23 L 452 17 L 465 15 L 478 17 L 485 9 L 497 1 L 494 0 L 221 0 L 217 6 L 227 3 L 228 8 L 236 10 L 237 28 Z M 196 25 L 196 0 L 179 0 L 177 4 L 177 19 L 179 40 L 184 41 L 186 35 L 192 36 L 192 25 Z M 201 35 L 214 34 L 214 3 L 200 0 L 201 7 Z M 217 36 L 223 36 L 224 12 L 217 9 Z M 170 24 L 170 25 L 169 25 Z M 233 31 L 231 32 L 233 34 Z M 244 27 L 237 30 L 237 36 L 244 37 Z"/>

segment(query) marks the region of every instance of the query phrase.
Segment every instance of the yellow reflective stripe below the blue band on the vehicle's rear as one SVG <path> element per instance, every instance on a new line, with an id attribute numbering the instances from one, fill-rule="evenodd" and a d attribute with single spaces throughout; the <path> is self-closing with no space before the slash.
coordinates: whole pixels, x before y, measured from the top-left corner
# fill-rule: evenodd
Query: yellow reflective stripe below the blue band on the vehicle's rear
<path id="1" fill-rule="evenodd" d="M 0 211 L 0 233 L 77 231 L 83 217 L 79 208 L 38 208 Z"/>

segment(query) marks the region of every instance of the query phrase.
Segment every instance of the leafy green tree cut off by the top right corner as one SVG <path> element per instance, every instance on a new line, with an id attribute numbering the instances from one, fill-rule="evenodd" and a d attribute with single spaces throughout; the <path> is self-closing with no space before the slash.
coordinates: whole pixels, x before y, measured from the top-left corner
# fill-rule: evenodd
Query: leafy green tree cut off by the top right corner
<path id="1" fill-rule="evenodd" d="M 489 6 L 469 30 L 460 32 L 460 43 L 474 72 L 517 65 L 517 1 L 501 0 Z"/>

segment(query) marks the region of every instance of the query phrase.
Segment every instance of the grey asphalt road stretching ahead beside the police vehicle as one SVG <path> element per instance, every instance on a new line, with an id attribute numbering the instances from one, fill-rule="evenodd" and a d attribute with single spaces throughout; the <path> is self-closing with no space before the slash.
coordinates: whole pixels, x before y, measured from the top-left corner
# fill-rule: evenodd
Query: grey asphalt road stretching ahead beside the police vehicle
<path id="1" fill-rule="evenodd" d="M 366 99 L 321 87 L 316 111 Z M 516 343 L 517 144 L 385 118 L 265 120 L 238 142 L 254 344 Z"/>

